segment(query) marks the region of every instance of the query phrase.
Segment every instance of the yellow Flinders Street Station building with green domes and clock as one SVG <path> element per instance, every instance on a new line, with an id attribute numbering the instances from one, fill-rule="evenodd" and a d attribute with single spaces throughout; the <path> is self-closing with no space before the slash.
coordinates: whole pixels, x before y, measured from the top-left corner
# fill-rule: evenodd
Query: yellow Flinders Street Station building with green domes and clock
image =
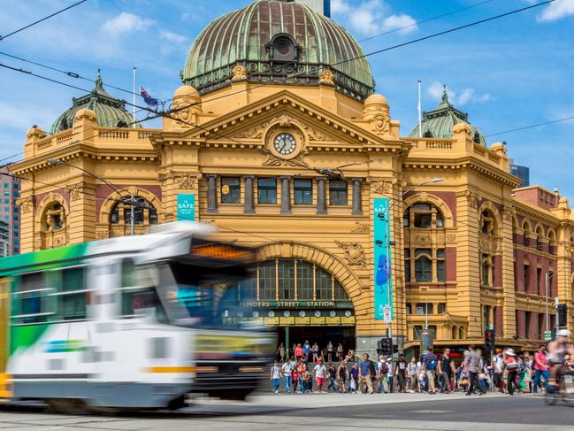
<path id="1" fill-rule="evenodd" d="M 120 194 L 141 203 L 136 235 L 194 219 L 257 247 L 234 318 L 290 343 L 372 352 L 390 330 L 408 352 L 428 327 L 435 347 L 463 348 L 494 328 L 532 350 L 574 329 L 568 200 L 518 188 L 505 144 L 446 92 L 420 130 L 402 127 L 363 56 L 310 7 L 257 0 L 197 35 L 162 128 L 134 127 L 98 74 L 11 166 L 22 252 L 130 235 Z"/>

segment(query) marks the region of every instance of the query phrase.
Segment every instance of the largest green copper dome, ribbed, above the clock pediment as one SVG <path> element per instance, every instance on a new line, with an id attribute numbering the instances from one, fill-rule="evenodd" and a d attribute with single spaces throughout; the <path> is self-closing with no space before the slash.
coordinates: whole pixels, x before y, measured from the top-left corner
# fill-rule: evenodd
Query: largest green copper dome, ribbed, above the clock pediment
<path id="1" fill-rule="evenodd" d="M 250 82 L 318 85 L 333 72 L 343 94 L 364 100 L 375 87 L 371 65 L 353 36 L 305 4 L 257 0 L 215 19 L 195 39 L 181 80 L 200 94 L 229 84 L 242 65 Z"/>

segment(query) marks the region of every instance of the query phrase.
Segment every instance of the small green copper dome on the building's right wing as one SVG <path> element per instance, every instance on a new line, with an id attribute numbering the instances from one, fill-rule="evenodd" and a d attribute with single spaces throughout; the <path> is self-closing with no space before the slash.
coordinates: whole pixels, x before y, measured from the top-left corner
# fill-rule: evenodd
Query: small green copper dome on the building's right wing
<path id="1" fill-rule="evenodd" d="M 423 133 L 419 135 L 417 125 L 417 127 L 412 129 L 409 137 L 417 138 L 422 135 L 425 138 L 452 138 L 453 127 L 458 123 L 468 124 L 471 127 L 471 136 L 474 142 L 486 147 L 485 137 L 480 133 L 477 127 L 469 123 L 468 114 L 458 111 L 448 102 L 448 94 L 445 87 L 442 90 L 442 101 L 439 106 L 432 111 L 423 112 L 423 120 L 421 122 Z"/>

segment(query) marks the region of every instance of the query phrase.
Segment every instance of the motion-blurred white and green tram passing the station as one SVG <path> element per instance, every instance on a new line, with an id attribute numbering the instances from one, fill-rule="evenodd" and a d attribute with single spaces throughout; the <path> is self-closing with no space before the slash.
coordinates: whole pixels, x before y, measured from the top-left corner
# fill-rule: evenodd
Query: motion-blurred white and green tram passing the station
<path id="1" fill-rule="evenodd" d="M 194 223 L 0 259 L 0 397 L 64 410 L 244 399 L 275 335 L 241 319 L 255 251 Z"/>

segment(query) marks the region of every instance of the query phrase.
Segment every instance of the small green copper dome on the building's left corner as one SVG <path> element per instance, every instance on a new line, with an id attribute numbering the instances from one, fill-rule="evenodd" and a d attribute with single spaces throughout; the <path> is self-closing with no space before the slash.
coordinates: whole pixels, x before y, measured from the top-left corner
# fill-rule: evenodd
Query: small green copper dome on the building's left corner
<path id="1" fill-rule="evenodd" d="M 96 112 L 96 123 L 99 127 L 130 127 L 133 122 L 132 114 L 126 111 L 126 101 L 113 98 L 103 89 L 99 70 L 96 76 L 96 87 L 86 96 L 73 97 L 72 102 L 72 107 L 54 121 L 50 134 L 57 134 L 71 128 L 76 112 L 84 108 Z M 142 125 L 136 123 L 135 127 L 142 127 Z"/>

